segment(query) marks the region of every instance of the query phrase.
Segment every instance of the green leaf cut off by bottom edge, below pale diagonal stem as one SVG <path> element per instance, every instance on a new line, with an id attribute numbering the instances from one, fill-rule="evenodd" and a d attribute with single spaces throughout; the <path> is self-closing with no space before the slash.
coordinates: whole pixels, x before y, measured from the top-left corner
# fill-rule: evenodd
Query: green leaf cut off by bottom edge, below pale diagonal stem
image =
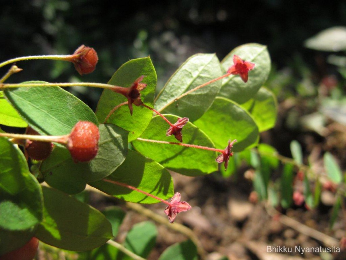
<path id="1" fill-rule="evenodd" d="M 117 259 L 119 250 L 110 244 L 104 244 L 99 248 L 87 252 L 79 252 L 77 260 L 111 260 Z"/>

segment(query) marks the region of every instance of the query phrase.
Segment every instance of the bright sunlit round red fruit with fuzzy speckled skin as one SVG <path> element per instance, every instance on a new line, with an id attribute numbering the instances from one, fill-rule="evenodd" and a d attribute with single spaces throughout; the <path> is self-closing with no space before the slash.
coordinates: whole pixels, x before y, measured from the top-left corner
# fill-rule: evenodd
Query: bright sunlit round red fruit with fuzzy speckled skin
<path id="1" fill-rule="evenodd" d="M 88 162 L 99 149 L 99 128 L 89 121 L 79 121 L 72 129 L 67 148 L 75 162 Z"/>

